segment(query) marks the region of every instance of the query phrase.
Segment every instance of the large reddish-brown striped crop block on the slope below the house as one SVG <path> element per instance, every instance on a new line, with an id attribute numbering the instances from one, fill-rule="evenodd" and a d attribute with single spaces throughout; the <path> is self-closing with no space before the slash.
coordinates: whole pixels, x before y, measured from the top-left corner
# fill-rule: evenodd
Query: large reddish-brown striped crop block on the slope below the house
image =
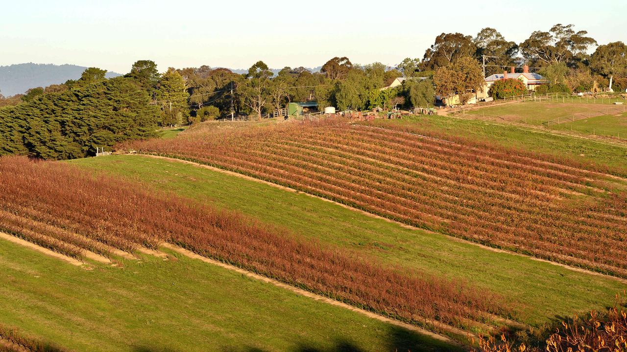
<path id="1" fill-rule="evenodd" d="M 334 122 L 187 133 L 124 148 L 206 163 L 406 224 L 627 277 L 627 194 L 604 192 L 612 186 L 601 167 L 419 129 Z M 574 195 L 586 201 L 572 202 Z"/>

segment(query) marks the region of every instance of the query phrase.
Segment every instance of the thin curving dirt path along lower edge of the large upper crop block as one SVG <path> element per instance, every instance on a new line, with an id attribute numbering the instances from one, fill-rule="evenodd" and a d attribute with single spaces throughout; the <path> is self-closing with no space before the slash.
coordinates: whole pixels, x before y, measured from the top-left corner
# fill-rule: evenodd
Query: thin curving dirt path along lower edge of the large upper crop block
<path id="1" fill-rule="evenodd" d="M 345 205 L 345 204 L 341 204 L 341 203 L 338 203 L 338 202 L 334 202 L 333 200 L 326 199 L 324 197 L 319 197 L 317 195 L 308 194 L 308 193 L 305 193 L 305 192 L 300 192 L 299 190 L 291 189 L 289 187 L 285 187 L 285 186 L 278 185 L 278 184 L 273 184 L 272 182 L 268 182 L 268 181 L 265 181 L 265 180 L 255 179 L 254 177 L 243 175 L 241 173 L 232 172 L 232 171 L 228 171 L 228 170 L 223 170 L 223 169 L 218 168 L 218 167 L 204 165 L 202 163 L 197 163 L 197 162 L 190 162 L 189 160 L 182 160 L 182 159 L 169 158 L 169 157 L 161 157 L 159 155 L 140 154 L 140 153 L 127 154 L 127 155 L 139 155 L 141 157 L 149 157 L 149 158 L 157 158 L 157 159 L 162 159 L 162 160 L 169 160 L 171 162 L 186 163 L 186 164 L 189 164 L 189 165 L 194 165 L 196 167 L 206 168 L 208 170 L 212 170 L 212 171 L 215 171 L 215 172 L 225 173 L 226 175 L 231 175 L 231 176 L 234 176 L 234 177 L 240 177 L 241 179 L 246 179 L 246 180 L 251 180 L 251 181 L 255 181 L 255 182 L 260 182 L 261 184 L 266 184 L 266 185 L 270 185 L 270 186 L 278 188 L 278 189 L 287 190 L 288 192 L 293 192 L 293 193 L 297 193 L 297 194 L 305 194 L 305 195 L 308 195 L 309 197 L 314 197 L 316 199 L 324 200 L 325 202 L 329 202 L 329 203 L 333 203 L 335 205 L 339 205 L 340 207 L 343 207 L 345 209 L 350 209 L 350 210 L 359 212 L 359 213 L 364 214 L 364 215 L 366 215 L 368 217 L 372 217 L 372 218 L 375 218 L 375 219 L 381 219 L 381 220 L 385 220 L 387 222 L 391 222 L 391 223 L 399 225 L 399 226 L 401 226 L 401 227 L 403 227 L 405 229 L 421 230 L 421 231 L 424 231 L 424 232 L 428 232 L 430 234 L 438 234 L 440 236 L 446 236 L 449 239 L 452 239 L 453 241 L 461 242 L 461 243 L 464 243 L 464 244 L 472 244 L 473 246 L 477 246 L 477 247 L 480 247 L 482 249 L 487 249 L 488 251 L 497 252 L 497 253 L 507 253 L 507 254 L 511 254 L 513 256 L 525 257 L 525 258 L 528 258 L 528 259 L 532 259 L 534 261 L 545 262 L 545 263 L 552 264 L 554 266 L 564 267 L 564 268 L 569 269 L 571 271 L 581 272 L 581 273 L 584 273 L 584 274 L 590 274 L 590 275 L 599 276 L 599 277 L 605 277 L 607 279 L 612 279 L 614 281 L 618 281 L 618 282 L 622 282 L 624 284 L 627 284 L 627 279 L 623 279 L 621 277 L 611 276 L 611 275 L 603 274 L 601 272 L 596 272 L 596 271 L 583 269 L 581 267 L 569 266 L 567 264 L 562 264 L 562 263 L 559 263 L 559 262 L 547 261 L 546 259 L 541 259 L 541 258 L 538 258 L 538 257 L 527 256 L 525 254 L 521 254 L 521 253 L 517 253 L 517 252 L 506 251 L 504 249 L 498 249 L 498 248 L 494 248 L 494 247 L 490 247 L 490 246 L 485 246 L 485 245 L 479 244 L 477 242 L 466 241 L 465 239 L 460 239 L 460 238 L 455 237 L 455 236 L 449 236 L 449 235 L 446 235 L 446 234 L 442 234 L 440 232 L 433 232 L 433 231 L 429 231 L 429 230 L 426 230 L 426 229 L 421 229 L 419 227 L 414 227 L 414 226 L 411 226 L 411 225 L 408 225 L 408 224 L 403 224 L 402 222 L 397 222 L 397 221 L 394 221 L 394 220 L 391 220 L 391 219 L 387 219 L 386 217 L 375 215 L 375 214 L 366 212 L 366 211 L 361 210 L 361 209 L 356 209 L 356 208 L 353 208 L 353 207 L 349 207 L 349 205 Z"/>

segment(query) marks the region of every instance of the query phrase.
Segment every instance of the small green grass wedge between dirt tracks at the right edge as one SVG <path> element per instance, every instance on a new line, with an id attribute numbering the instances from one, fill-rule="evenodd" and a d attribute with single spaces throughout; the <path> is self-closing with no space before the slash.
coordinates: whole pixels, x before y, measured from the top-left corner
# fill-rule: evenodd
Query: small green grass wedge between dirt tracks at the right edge
<path id="1" fill-rule="evenodd" d="M 619 137 L 627 140 L 627 113 L 619 115 L 603 115 L 564 122 L 553 126 L 559 130 L 574 130 L 581 133 Z"/>

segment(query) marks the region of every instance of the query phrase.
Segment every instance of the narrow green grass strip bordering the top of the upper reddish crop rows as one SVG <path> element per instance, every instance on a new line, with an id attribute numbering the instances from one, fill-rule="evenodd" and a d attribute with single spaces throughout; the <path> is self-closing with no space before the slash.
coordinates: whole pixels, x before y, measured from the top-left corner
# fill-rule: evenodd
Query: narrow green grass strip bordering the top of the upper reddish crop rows
<path id="1" fill-rule="evenodd" d="M 376 123 L 416 126 L 425 130 L 497 142 L 506 147 L 549 153 L 580 162 L 609 165 L 627 175 L 627 147 L 606 142 L 552 134 L 507 123 L 448 116 L 411 116 L 402 120 L 376 120 Z"/>

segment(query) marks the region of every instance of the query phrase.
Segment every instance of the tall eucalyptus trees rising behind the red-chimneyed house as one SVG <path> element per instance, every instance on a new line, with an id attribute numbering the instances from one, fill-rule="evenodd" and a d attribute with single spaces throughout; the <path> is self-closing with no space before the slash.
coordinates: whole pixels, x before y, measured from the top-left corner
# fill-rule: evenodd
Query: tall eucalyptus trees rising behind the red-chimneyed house
<path id="1" fill-rule="evenodd" d="M 533 71 L 563 71 L 559 81 L 550 81 L 547 91 L 587 91 L 597 81 L 608 90 L 627 88 L 627 48 L 618 41 L 599 45 L 587 31 L 573 24 L 556 24 L 548 31 L 537 30 L 522 43 L 508 41 L 494 28 L 483 28 L 477 35 L 442 33 L 426 49 L 423 58 L 406 58 L 398 70 L 406 77 L 421 76 L 438 68 L 455 65 L 461 58 L 472 57 L 479 63 L 485 58 L 485 73 L 492 75 L 510 66 L 528 65 Z"/>

